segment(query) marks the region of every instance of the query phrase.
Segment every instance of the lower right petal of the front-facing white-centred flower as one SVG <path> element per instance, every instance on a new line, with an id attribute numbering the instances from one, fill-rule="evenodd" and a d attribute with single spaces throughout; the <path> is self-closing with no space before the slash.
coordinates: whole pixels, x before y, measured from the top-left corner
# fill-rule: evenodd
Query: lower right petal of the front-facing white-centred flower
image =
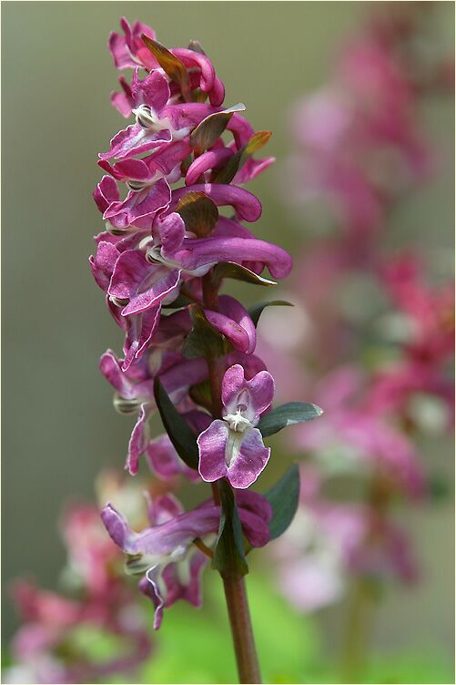
<path id="1" fill-rule="evenodd" d="M 227 477 L 230 484 L 242 489 L 251 486 L 268 464 L 269 455 L 270 449 L 264 446 L 258 428 L 246 431 L 238 455 L 234 456 L 228 466 Z"/>

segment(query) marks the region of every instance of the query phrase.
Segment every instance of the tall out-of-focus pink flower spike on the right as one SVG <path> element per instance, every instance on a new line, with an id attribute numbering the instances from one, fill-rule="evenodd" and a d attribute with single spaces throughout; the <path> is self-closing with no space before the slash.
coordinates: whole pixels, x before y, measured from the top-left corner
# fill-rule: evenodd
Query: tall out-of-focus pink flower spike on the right
<path id="1" fill-rule="evenodd" d="M 339 599 L 349 578 L 417 577 L 393 505 L 430 501 L 434 474 L 418 437 L 451 429 L 454 283 L 431 283 L 416 248 L 391 253 L 383 241 L 391 211 L 435 168 L 419 105 L 451 87 L 448 60 L 422 49 L 428 11 L 375 17 L 342 53 L 329 87 L 293 113 L 291 199 L 306 226 L 332 210 L 331 232 L 307 246 L 298 299 L 287 293 L 300 329 L 269 357 L 288 316 L 269 312 L 260 349 L 288 387 L 313 387 L 326 413 L 289 442 L 313 466 L 302 469 L 299 514 L 276 547 L 280 586 L 303 610 Z M 360 501 L 325 495 L 327 481 L 343 491 L 348 479 L 355 492 L 363 484 Z"/>

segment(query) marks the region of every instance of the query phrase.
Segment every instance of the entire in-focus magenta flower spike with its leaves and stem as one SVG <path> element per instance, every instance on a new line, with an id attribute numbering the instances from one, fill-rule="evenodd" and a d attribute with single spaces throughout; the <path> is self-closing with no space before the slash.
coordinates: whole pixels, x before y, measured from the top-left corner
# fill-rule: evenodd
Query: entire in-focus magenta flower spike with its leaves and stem
<path id="1" fill-rule="evenodd" d="M 255 354 L 265 306 L 247 310 L 219 295 L 226 279 L 270 287 L 291 271 L 289 254 L 244 225 L 261 203 L 242 186 L 273 158 L 254 158 L 270 138 L 225 107 L 225 90 L 202 47 L 167 49 L 155 32 L 121 20 L 109 49 L 131 83 L 111 101 L 132 124 L 112 138 L 94 192 L 106 230 L 90 266 L 109 312 L 125 333 L 123 358 L 107 351 L 100 369 L 121 413 L 137 414 L 126 468 L 146 464 L 167 495 L 149 503 L 150 526 L 132 530 L 106 505 L 110 537 L 127 554 L 127 572 L 152 600 L 154 628 L 177 599 L 200 604 L 199 578 L 211 560 L 223 578 L 241 682 L 260 674 L 243 576 L 246 555 L 288 526 L 298 506 L 299 471 L 268 493 L 248 490 L 268 464 L 263 439 L 321 414 L 314 404 L 270 405 L 274 381 Z M 122 189 L 125 189 L 122 191 Z M 218 208 L 231 208 L 221 216 Z M 166 433 L 151 438 L 158 411 Z M 144 456 L 144 459 L 141 457 Z M 179 478 L 211 484 L 212 500 L 183 512 L 171 491 Z"/>

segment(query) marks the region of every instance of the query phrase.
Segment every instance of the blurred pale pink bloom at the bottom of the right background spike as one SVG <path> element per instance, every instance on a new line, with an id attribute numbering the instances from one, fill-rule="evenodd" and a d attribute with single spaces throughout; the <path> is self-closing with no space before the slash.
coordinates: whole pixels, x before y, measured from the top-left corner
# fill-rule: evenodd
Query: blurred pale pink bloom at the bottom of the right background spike
<path id="1" fill-rule="evenodd" d="M 289 602 L 311 612 L 339 601 L 353 575 L 381 582 L 417 577 L 405 533 L 369 506 L 330 502 L 315 467 L 301 467 L 298 514 L 271 553 Z"/>

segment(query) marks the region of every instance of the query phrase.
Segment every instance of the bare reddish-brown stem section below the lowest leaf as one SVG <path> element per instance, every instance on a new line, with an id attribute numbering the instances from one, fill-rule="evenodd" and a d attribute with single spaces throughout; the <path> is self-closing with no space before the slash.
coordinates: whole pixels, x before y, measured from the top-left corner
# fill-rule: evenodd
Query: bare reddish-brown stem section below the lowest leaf
<path id="1" fill-rule="evenodd" d="M 260 683 L 257 649 L 253 637 L 244 578 L 223 578 L 231 635 L 238 663 L 239 682 Z"/>

